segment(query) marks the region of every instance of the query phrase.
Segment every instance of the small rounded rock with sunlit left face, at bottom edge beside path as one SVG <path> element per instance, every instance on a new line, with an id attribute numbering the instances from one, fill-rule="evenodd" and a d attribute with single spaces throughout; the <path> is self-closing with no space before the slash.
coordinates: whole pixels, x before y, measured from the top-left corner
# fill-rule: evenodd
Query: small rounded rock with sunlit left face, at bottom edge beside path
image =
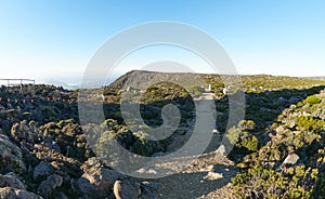
<path id="1" fill-rule="evenodd" d="M 116 199 L 136 199 L 141 195 L 140 184 L 128 180 L 116 181 L 114 195 Z"/>

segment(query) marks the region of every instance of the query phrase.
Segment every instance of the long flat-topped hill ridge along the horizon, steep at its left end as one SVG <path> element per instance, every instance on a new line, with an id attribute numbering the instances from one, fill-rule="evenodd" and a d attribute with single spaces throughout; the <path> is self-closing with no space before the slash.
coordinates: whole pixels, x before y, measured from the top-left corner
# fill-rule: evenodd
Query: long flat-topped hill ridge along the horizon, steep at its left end
<path id="1" fill-rule="evenodd" d="M 132 70 L 120 76 L 116 81 L 109 84 L 110 88 L 144 88 L 156 82 L 172 81 L 181 82 L 186 85 L 204 85 L 211 84 L 212 91 L 220 92 L 224 87 L 224 80 L 232 81 L 235 77 L 240 77 L 243 89 L 245 91 L 259 92 L 266 90 L 281 89 L 308 89 L 315 85 L 324 85 L 324 79 L 297 78 L 286 76 L 232 76 L 232 75 L 211 75 L 211 74 L 190 74 L 190 72 L 157 72 L 145 70 Z"/>

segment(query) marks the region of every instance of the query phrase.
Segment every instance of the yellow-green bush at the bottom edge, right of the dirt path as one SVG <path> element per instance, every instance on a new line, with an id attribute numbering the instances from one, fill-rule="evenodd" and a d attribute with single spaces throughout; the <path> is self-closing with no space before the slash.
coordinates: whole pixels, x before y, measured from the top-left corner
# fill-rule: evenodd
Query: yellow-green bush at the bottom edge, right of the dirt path
<path id="1" fill-rule="evenodd" d="M 232 180 L 240 198 L 311 198 L 316 170 L 299 165 L 287 173 L 256 165 Z M 313 182 L 313 183 L 311 183 Z"/>

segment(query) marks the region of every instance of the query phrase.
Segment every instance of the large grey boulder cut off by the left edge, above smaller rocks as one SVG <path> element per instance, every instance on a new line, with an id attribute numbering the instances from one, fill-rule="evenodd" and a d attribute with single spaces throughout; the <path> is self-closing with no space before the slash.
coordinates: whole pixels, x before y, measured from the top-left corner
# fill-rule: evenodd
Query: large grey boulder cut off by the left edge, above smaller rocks
<path id="1" fill-rule="evenodd" d="M 26 171 L 25 163 L 23 162 L 23 152 L 20 147 L 12 144 L 8 136 L 0 134 L 0 156 L 2 158 L 10 158 L 10 160 L 18 163 L 20 172 Z"/>

